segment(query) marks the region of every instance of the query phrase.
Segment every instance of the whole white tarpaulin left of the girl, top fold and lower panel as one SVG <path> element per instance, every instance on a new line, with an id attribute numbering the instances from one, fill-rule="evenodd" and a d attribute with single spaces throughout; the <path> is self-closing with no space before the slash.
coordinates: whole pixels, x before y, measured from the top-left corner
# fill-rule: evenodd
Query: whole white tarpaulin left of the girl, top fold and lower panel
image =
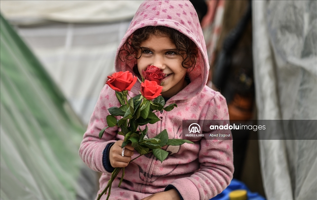
<path id="1" fill-rule="evenodd" d="M 16 24 L 87 125 L 107 76 L 114 72 L 117 47 L 142 2 L 1 1 L 1 12 Z"/>

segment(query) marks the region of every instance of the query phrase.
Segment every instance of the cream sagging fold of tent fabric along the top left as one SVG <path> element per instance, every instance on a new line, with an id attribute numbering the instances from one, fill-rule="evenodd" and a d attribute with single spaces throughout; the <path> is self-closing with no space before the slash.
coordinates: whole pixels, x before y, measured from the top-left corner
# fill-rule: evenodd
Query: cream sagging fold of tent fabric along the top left
<path id="1" fill-rule="evenodd" d="M 59 21 L 67 23 L 114 22 L 132 19 L 143 1 L 8 1 L 1 0 L 3 15 L 15 25 Z"/>

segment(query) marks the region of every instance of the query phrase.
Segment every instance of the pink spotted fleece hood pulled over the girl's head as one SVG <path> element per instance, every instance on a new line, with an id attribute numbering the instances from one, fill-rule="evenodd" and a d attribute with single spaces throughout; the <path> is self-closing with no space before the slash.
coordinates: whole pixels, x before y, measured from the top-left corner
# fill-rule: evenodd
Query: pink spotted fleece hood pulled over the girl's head
<path id="1" fill-rule="evenodd" d="M 197 63 L 194 69 L 188 72 L 191 83 L 178 94 L 171 97 L 171 100 L 186 100 L 199 94 L 207 83 L 209 63 L 203 32 L 196 10 L 190 1 L 144 1 L 135 13 L 118 47 L 114 62 L 115 71 L 130 71 L 135 75 L 133 67 L 137 64 L 137 59 L 124 59 L 123 62 L 119 58 L 119 52 L 134 31 L 146 26 L 166 26 L 176 29 L 197 45 L 199 50 Z M 137 91 L 139 88 L 140 83 L 137 82 L 131 91 L 139 94 Z"/>

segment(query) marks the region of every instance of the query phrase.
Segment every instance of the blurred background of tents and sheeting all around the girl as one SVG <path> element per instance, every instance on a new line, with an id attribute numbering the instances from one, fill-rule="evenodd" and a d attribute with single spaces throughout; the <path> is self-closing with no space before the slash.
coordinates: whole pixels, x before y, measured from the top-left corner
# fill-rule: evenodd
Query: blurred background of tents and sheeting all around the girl
<path id="1" fill-rule="evenodd" d="M 0 1 L 1 199 L 95 198 L 100 174 L 78 148 L 142 2 Z M 191 3 L 207 85 L 226 97 L 230 120 L 317 120 L 316 1 Z M 277 126 L 272 133 L 292 138 Z M 232 188 L 240 184 L 249 199 L 317 199 L 316 140 L 232 134 Z"/>

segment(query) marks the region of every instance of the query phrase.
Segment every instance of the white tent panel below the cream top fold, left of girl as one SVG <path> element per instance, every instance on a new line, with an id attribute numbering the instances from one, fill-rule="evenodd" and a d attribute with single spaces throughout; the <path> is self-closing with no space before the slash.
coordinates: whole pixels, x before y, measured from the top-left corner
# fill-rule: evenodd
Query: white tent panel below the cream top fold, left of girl
<path id="1" fill-rule="evenodd" d="M 116 23 L 55 23 L 16 27 L 87 125 L 130 20 Z"/>

